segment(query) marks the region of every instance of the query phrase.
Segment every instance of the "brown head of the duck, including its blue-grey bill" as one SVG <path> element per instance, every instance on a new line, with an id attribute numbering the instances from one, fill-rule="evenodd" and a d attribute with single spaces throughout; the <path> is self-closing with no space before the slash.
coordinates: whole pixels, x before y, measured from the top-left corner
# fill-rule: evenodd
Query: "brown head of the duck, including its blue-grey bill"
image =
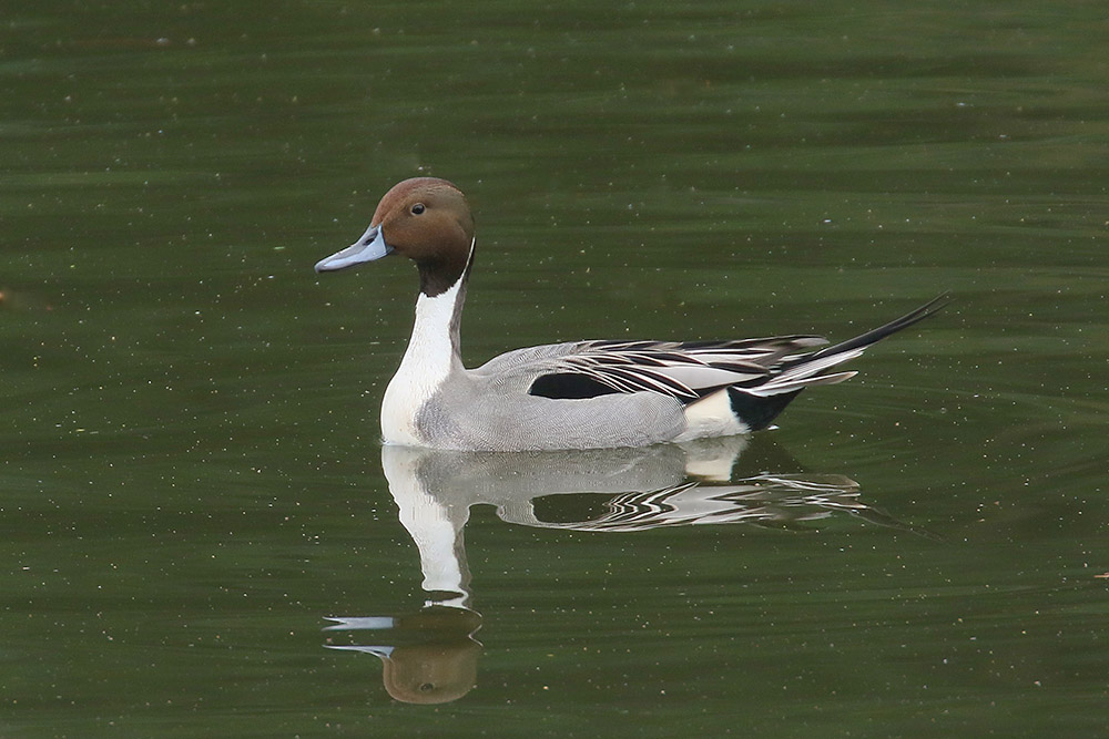
<path id="1" fill-rule="evenodd" d="M 469 267 L 474 216 L 461 191 L 446 179 L 397 183 L 374 212 L 369 228 L 347 248 L 316 264 L 316 271 L 345 269 L 399 254 L 416 263 L 420 291 L 435 297 Z"/>

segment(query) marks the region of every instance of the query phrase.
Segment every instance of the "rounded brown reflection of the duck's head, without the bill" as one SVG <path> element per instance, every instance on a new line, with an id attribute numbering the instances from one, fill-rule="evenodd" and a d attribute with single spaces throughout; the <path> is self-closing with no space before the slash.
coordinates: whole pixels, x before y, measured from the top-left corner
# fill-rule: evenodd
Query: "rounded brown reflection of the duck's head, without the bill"
<path id="1" fill-rule="evenodd" d="M 396 647 L 381 658 L 381 680 L 390 696 L 406 704 L 458 700 L 477 682 L 480 654 L 481 645 L 469 637 Z"/>

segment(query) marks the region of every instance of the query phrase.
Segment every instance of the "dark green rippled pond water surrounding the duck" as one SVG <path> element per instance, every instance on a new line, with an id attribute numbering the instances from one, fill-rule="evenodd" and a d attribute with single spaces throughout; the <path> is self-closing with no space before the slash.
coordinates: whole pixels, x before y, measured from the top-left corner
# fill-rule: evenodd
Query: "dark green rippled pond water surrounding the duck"
<path id="1" fill-rule="evenodd" d="M 0 733 L 1106 731 L 1100 6 L 4 20 Z M 477 212 L 471 365 L 956 302 L 734 465 L 404 474 L 411 270 L 311 267 L 415 174 Z M 643 489 L 682 525 L 598 531 Z"/>

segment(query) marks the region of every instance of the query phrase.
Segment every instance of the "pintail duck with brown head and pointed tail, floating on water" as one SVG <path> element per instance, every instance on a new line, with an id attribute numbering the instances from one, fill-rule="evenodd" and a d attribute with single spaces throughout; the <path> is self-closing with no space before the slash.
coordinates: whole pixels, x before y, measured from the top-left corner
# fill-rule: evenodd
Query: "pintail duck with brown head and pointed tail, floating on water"
<path id="1" fill-rule="evenodd" d="M 934 315 L 940 295 L 840 343 L 790 335 L 721 341 L 582 340 L 516 349 L 475 369 L 459 341 L 474 269 L 474 216 L 452 183 L 394 185 L 369 227 L 317 273 L 390 256 L 416 265 L 411 338 L 381 401 L 385 444 L 457 451 L 645 447 L 766 429 L 797 394 L 856 374 L 840 369 Z"/>

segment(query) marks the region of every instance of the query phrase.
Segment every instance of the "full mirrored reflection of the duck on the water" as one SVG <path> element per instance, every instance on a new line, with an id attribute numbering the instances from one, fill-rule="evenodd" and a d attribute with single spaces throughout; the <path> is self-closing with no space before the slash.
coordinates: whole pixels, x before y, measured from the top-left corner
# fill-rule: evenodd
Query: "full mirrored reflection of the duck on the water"
<path id="1" fill-rule="evenodd" d="M 381 659 L 397 700 L 444 702 L 475 685 L 481 617 L 470 609 L 462 530 L 470 507 L 497 507 L 506 522 L 545 528 L 634 532 L 660 526 L 752 523 L 793 526 L 836 512 L 897 527 L 858 500 L 842 475 L 759 473 L 732 480 L 746 440 L 571 452 L 449 452 L 381 448 L 401 524 L 419 550 L 427 599 L 401 616 L 330 618 L 329 642 L 347 633 L 373 644 L 328 644 Z M 757 464 L 767 463 L 763 448 Z M 749 468 L 750 469 L 750 468 Z M 754 468 L 760 469 L 760 468 Z M 765 469 L 765 468 L 762 468 Z M 737 475 L 736 475 L 737 476 Z"/>

